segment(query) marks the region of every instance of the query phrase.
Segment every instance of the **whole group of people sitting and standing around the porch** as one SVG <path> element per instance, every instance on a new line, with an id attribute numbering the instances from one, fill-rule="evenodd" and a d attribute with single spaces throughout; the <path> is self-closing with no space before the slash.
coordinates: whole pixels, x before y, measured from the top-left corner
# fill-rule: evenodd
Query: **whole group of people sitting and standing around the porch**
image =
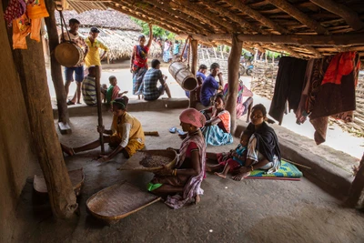
<path id="1" fill-rule="evenodd" d="M 75 25 L 79 23 L 70 21 L 70 28 L 74 29 L 72 33 L 76 36 L 77 26 Z M 146 37 L 140 35 L 139 44 L 133 48 L 130 63 L 130 71 L 133 74 L 133 94 L 142 95 L 146 100 L 155 100 L 166 91 L 170 97 L 166 83 L 167 76 L 161 73 L 159 60 L 152 60 L 151 68 L 147 66 L 147 54 L 152 41 L 152 25 L 149 25 L 149 33 L 147 45 Z M 97 45 L 95 34 L 97 29 L 91 28 L 90 36 L 92 37 L 87 38 L 86 46 Z M 101 47 L 101 45 L 98 46 Z M 88 50 L 86 48 L 86 56 L 87 51 L 91 52 L 89 48 Z M 92 60 L 92 58 L 86 60 Z M 86 63 L 89 64 L 88 61 Z M 76 68 L 72 70 L 76 71 Z M 95 71 L 96 66 L 88 66 L 88 75 L 82 86 L 84 96 L 96 96 L 95 82 L 91 82 L 95 78 Z M 67 72 L 70 73 L 68 70 Z M 254 169 L 265 169 L 271 173 L 277 171 L 280 166 L 278 138 L 274 130 L 265 122 L 267 110 L 261 104 L 251 107 L 252 93 L 241 81 L 238 89 L 237 116 L 242 116 L 248 111 L 247 120 L 250 118 L 251 122 L 242 133 L 238 147 L 222 154 L 206 152 L 207 145 L 226 146 L 233 143 L 230 133 L 231 117 L 225 109 L 228 86 L 224 85 L 217 63 L 212 64 L 210 74 L 208 76 L 206 74 L 207 66 L 199 66 L 198 87 L 197 92 L 194 93 L 197 93 L 197 100 L 207 107 L 201 111 L 188 108 L 180 114 L 180 125 L 186 137 L 178 149 L 167 148 L 177 151 L 176 166 L 163 167 L 155 173 L 155 177 L 147 185 L 150 192 L 166 197 L 166 204 L 171 208 L 181 208 L 193 201 L 199 202 L 199 196 L 203 194 L 201 182 L 206 177 L 206 172 L 215 172 L 218 177 L 227 177 L 228 172 L 233 172 L 235 173 L 233 178 L 241 180 L 248 177 Z M 108 143 L 112 151 L 107 155 L 100 155 L 99 162 L 109 161 L 118 153 L 122 153 L 126 158 L 132 157 L 136 150 L 145 147 L 145 134 L 140 121 L 127 112 L 128 98 L 119 94 L 120 89 L 116 85 L 115 76 L 110 76 L 109 80 L 111 86 L 104 89 L 103 93 L 112 106 L 113 121 L 111 129 L 97 127 L 97 132 L 104 134 L 104 143 Z M 158 81 L 161 84 L 159 87 L 157 87 Z M 243 102 L 243 96 L 248 96 L 248 100 Z M 85 101 L 87 105 L 94 104 L 93 99 Z M 81 147 L 66 147 L 61 144 L 63 151 L 69 156 L 99 146 L 99 139 Z M 216 165 L 207 166 L 207 161 L 215 162 Z"/>

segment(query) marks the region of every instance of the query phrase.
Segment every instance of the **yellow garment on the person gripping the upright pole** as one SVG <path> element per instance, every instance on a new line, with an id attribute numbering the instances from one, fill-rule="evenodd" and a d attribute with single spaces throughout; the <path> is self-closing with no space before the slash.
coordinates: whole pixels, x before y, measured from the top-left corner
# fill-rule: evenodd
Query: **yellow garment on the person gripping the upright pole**
<path id="1" fill-rule="evenodd" d="M 139 120 L 127 112 L 124 113 L 119 124 L 117 124 L 117 116 L 113 116 L 113 123 L 111 125 L 113 135 L 110 136 L 110 144 L 112 146 L 118 146 L 122 142 L 124 133 L 122 126 L 125 123 L 131 125 L 129 141 L 127 142 L 127 146 L 125 148 L 129 156 L 132 156 L 136 153 L 136 150 L 142 149 L 144 147 L 146 137 L 144 136 L 143 127 Z"/>

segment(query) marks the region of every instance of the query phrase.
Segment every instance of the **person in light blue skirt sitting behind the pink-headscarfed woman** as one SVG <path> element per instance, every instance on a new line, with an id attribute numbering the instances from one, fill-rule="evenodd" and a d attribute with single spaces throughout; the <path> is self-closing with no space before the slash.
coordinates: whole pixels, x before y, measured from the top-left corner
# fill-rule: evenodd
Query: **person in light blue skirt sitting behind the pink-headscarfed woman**
<path id="1" fill-rule="evenodd" d="M 229 145 L 233 143 L 230 134 L 230 113 L 225 110 L 225 99 L 222 94 L 215 97 L 215 106 L 201 111 L 206 117 L 207 122 L 202 129 L 206 144 L 212 146 Z M 211 117 L 207 115 L 211 113 Z"/>

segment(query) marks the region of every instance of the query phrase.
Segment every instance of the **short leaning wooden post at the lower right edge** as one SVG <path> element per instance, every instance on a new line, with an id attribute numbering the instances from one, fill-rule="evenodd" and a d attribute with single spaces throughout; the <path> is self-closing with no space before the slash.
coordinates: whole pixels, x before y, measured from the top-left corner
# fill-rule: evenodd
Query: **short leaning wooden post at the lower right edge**
<path id="1" fill-rule="evenodd" d="M 346 202 L 347 205 L 351 208 L 355 208 L 362 195 L 364 195 L 364 154 L 363 157 L 361 157 L 359 171 L 351 184 L 349 197 Z M 362 205 L 359 205 L 359 208 L 364 209 L 364 202 Z"/>

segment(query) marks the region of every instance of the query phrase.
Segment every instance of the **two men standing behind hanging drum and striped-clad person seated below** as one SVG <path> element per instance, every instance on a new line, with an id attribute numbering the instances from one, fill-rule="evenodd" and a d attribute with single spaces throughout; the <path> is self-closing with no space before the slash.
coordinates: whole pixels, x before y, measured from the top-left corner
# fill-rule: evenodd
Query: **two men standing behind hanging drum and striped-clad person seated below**
<path id="1" fill-rule="evenodd" d="M 60 37 L 60 42 L 71 41 L 76 46 L 82 49 L 84 52 L 84 59 L 79 62 L 76 66 L 65 67 L 65 89 L 66 96 L 68 95 L 69 86 L 73 81 L 76 80 L 76 92 L 75 95 L 67 101 L 67 105 L 80 104 L 81 101 L 81 90 L 83 92 L 87 91 L 90 86 L 95 86 L 95 66 L 99 66 L 101 71 L 101 60 L 105 58 L 108 47 L 97 39 L 100 30 L 96 27 L 91 27 L 89 35 L 84 39 L 78 34 L 78 27 L 80 22 L 76 18 L 71 18 L 69 20 L 69 30 L 68 32 L 62 33 Z M 103 50 L 103 54 L 100 56 L 100 49 Z M 90 70 L 91 69 L 91 70 Z M 75 76 L 75 77 L 74 77 Z M 86 86 L 83 86 L 83 81 L 87 80 Z M 93 81 L 93 82 L 92 82 Z M 95 88 L 94 88 L 95 91 Z M 90 97 L 96 98 L 96 91 L 90 92 L 89 96 L 84 96 L 85 103 L 87 105 L 92 104 Z M 95 105 L 95 104 L 94 104 Z"/>

